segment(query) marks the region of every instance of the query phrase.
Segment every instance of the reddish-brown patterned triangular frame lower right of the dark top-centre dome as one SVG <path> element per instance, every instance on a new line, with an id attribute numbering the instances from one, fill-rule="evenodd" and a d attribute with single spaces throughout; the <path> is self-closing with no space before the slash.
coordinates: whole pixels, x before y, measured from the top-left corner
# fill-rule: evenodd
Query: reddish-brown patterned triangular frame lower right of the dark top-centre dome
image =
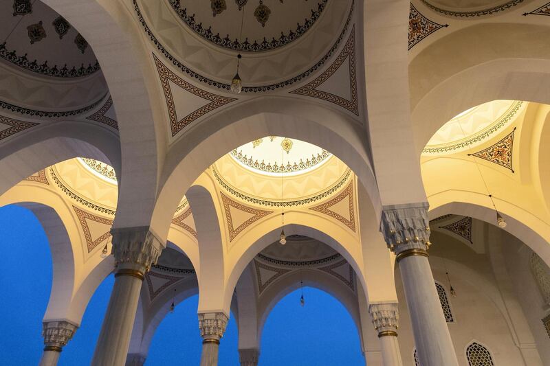
<path id="1" fill-rule="evenodd" d="M 329 80 L 335 73 L 340 69 L 344 61 L 348 60 L 349 62 L 349 80 L 346 80 L 346 83 L 349 84 L 349 96 L 343 97 L 341 95 L 336 95 L 327 90 L 320 90 L 321 85 L 327 80 Z M 356 69 L 355 69 L 355 26 L 352 28 L 349 35 L 348 41 L 338 55 L 338 58 L 332 63 L 332 65 L 320 76 L 318 76 L 309 84 L 304 85 L 301 88 L 298 88 L 289 93 L 306 95 L 308 97 L 318 98 L 321 100 L 326 100 L 327 102 L 334 103 L 342 108 L 346 108 L 348 111 L 352 112 L 355 115 L 359 115 L 359 106 L 358 106 L 358 89 L 357 89 L 357 78 L 356 78 Z M 349 98 L 349 99 L 348 99 Z"/>

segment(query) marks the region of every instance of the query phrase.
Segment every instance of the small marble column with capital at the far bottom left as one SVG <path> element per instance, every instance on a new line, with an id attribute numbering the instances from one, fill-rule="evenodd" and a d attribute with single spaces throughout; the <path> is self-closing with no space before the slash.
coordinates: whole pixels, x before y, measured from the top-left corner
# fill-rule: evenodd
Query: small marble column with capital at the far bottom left
<path id="1" fill-rule="evenodd" d="M 72 339 L 78 327 L 68 321 L 44 321 L 42 336 L 44 337 L 44 353 L 40 366 L 56 366 L 63 347 Z"/>

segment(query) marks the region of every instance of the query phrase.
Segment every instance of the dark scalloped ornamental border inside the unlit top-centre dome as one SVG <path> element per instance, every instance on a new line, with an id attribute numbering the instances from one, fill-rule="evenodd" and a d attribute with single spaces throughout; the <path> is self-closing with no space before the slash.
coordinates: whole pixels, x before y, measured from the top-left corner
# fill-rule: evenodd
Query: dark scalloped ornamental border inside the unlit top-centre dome
<path id="1" fill-rule="evenodd" d="M 170 5 L 172 5 L 174 11 L 179 15 L 179 18 L 181 18 L 181 20 L 186 23 L 191 30 L 199 34 L 199 36 L 206 39 L 206 41 L 214 43 L 214 45 L 241 52 L 269 51 L 271 49 L 283 47 L 284 45 L 288 45 L 292 41 L 295 41 L 300 38 L 300 36 L 303 36 L 303 34 L 305 34 L 305 32 L 307 32 L 309 28 L 314 25 L 317 19 L 319 19 L 319 16 L 322 11 L 325 10 L 325 6 L 328 1 L 329 0 L 321 0 L 321 2 L 318 3 L 317 10 L 311 9 L 311 18 L 305 19 L 304 25 L 300 25 L 300 23 L 298 23 L 298 25 L 296 25 L 296 30 L 289 30 L 288 34 L 283 34 L 283 32 L 281 32 L 281 38 L 277 40 L 273 38 L 272 41 L 267 41 L 264 37 L 261 43 L 258 43 L 257 40 L 254 40 L 254 43 L 250 43 L 248 42 L 248 38 L 246 38 L 244 42 L 237 41 L 236 39 L 231 41 L 229 34 L 225 36 L 225 38 L 221 38 L 219 34 L 214 34 L 210 27 L 205 29 L 203 28 L 202 23 L 197 23 L 195 21 L 195 14 L 189 16 L 187 14 L 187 8 L 181 9 L 180 0 L 169 0 Z"/>

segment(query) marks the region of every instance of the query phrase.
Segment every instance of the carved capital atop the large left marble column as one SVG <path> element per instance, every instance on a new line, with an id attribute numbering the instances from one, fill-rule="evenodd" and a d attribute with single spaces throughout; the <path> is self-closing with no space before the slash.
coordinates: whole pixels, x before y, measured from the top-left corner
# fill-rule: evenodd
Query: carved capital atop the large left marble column
<path id="1" fill-rule="evenodd" d="M 164 245 L 149 231 L 148 227 L 111 229 L 116 266 L 137 265 L 148 271 L 157 264 Z"/>

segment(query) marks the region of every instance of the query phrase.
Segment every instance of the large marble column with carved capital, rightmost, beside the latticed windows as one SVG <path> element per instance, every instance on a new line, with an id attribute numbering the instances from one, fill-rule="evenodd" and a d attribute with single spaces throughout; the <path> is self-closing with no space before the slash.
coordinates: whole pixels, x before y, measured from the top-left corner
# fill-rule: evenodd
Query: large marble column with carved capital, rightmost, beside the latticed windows
<path id="1" fill-rule="evenodd" d="M 428 262 L 428 203 L 386 206 L 380 230 L 396 255 L 422 366 L 457 366 Z"/>

